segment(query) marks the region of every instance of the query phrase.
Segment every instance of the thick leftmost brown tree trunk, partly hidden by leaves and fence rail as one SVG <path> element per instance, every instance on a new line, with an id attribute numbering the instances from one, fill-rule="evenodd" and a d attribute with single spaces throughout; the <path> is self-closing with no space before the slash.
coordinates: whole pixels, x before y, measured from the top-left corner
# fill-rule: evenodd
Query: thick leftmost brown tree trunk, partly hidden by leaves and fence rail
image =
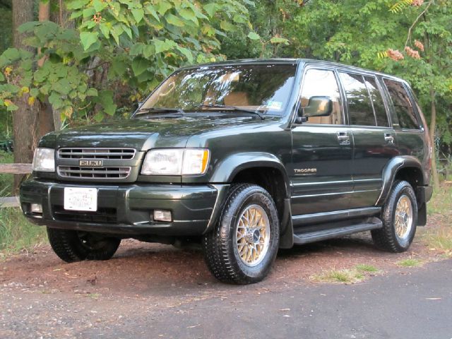
<path id="1" fill-rule="evenodd" d="M 33 20 L 33 2 L 30 0 L 13 0 L 13 47 L 33 49 L 24 44 L 26 35 L 18 32 L 17 28 L 23 23 Z M 14 129 L 14 162 L 30 163 L 37 145 L 37 110 L 28 105 L 28 94 L 23 95 L 15 104 L 19 107 L 13 112 Z M 23 175 L 14 177 L 14 190 L 18 189 Z"/>

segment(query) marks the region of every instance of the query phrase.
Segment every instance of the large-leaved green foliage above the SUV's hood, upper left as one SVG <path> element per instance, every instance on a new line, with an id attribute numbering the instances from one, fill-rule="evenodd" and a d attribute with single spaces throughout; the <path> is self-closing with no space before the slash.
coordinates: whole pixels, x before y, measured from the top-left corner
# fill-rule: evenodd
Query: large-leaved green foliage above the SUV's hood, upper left
<path id="1" fill-rule="evenodd" d="M 218 37 L 249 27 L 251 1 L 70 0 L 75 29 L 52 22 L 20 27 L 32 55 L 8 49 L 0 56 L 0 107 L 13 111 L 27 94 L 48 100 L 62 119 L 101 121 L 143 95 L 179 66 L 223 59 Z M 44 60 L 37 67 L 37 61 Z M 121 95 L 114 90 L 120 89 Z M 126 93 L 126 96 L 122 95 Z M 121 110 L 120 109 L 120 110 Z"/>

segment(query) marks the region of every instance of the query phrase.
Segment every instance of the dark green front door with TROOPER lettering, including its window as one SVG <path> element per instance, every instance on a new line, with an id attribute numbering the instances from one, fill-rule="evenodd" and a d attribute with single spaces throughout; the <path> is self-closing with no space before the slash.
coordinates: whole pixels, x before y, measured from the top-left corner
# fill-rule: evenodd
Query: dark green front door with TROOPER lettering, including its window
<path id="1" fill-rule="evenodd" d="M 304 73 L 302 107 L 310 97 L 330 97 L 327 117 L 310 117 L 292 129 L 289 169 L 292 215 L 349 208 L 352 182 L 352 134 L 345 124 L 337 77 L 333 69 L 308 68 Z"/>

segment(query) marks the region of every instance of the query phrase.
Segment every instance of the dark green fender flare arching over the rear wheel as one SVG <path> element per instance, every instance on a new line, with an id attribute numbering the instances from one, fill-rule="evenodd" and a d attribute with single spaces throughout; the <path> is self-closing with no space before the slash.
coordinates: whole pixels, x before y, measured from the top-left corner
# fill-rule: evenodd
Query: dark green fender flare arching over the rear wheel
<path id="1" fill-rule="evenodd" d="M 383 169 L 383 186 L 381 187 L 381 194 L 375 203 L 376 206 L 381 206 L 386 201 L 389 191 L 391 191 L 391 187 L 393 186 L 394 177 L 396 177 L 397 172 L 404 167 L 415 167 L 420 169 L 420 172 L 422 173 L 422 182 L 420 184 L 422 186 L 428 184 L 425 182 L 426 176 L 422 170 L 422 164 L 416 157 L 410 155 L 394 157 Z"/>

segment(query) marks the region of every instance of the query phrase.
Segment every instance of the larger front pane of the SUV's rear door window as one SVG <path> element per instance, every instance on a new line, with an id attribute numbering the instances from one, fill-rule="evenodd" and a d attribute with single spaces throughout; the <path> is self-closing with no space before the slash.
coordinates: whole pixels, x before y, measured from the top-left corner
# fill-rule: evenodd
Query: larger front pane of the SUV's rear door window
<path id="1" fill-rule="evenodd" d="M 374 109 L 364 78 L 351 73 L 340 72 L 339 74 L 347 95 L 350 125 L 376 126 Z"/>

